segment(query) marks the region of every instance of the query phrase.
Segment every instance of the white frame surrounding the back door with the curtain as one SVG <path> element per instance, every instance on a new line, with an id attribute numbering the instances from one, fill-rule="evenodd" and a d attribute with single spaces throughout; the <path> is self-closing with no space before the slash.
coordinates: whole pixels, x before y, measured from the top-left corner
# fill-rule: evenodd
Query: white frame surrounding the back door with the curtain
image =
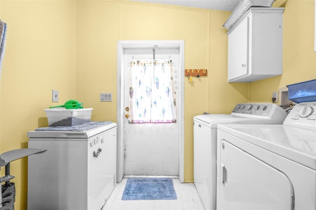
<path id="1" fill-rule="evenodd" d="M 118 41 L 118 155 L 117 181 L 124 175 L 124 49 L 179 48 L 180 102 L 179 103 L 179 181 L 184 182 L 184 40 L 129 40 Z"/>

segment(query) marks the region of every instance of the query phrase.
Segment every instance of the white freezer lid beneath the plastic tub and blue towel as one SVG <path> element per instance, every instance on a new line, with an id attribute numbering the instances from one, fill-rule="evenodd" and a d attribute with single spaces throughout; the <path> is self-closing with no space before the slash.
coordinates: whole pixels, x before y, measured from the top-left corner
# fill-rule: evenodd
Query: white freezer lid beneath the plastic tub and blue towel
<path id="1" fill-rule="evenodd" d="M 100 122 L 101 123 L 101 122 Z M 117 124 L 114 122 L 104 122 L 101 124 L 97 124 L 97 127 L 89 129 L 89 130 L 85 130 L 84 127 L 88 127 L 89 126 L 85 126 L 84 124 L 79 125 L 79 126 L 72 126 L 75 128 L 78 128 L 77 131 L 76 129 L 74 129 L 75 131 L 71 130 L 71 127 L 64 127 L 62 128 L 61 126 L 59 127 L 55 127 L 56 130 L 54 130 L 54 127 L 44 127 L 44 128 L 39 128 L 36 129 L 36 131 L 29 131 L 27 133 L 27 136 L 29 138 L 33 138 L 33 139 L 37 139 L 37 138 L 45 138 L 45 139 L 87 139 L 90 137 L 93 137 L 101 132 L 110 130 L 112 128 L 117 127 Z M 89 123 L 87 123 L 89 124 Z M 82 130 L 82 131 L 79 131 Z"/>

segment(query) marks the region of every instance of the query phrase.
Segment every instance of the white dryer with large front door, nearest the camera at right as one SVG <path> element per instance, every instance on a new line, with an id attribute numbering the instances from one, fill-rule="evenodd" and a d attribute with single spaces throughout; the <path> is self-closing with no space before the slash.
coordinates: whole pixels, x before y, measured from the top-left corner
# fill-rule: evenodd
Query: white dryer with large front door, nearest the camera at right
<path id="1" fill-rule="evenodd" d="M 282 125 L 218 126 L 218 210 L 316 210 L 316 102 Z"/>

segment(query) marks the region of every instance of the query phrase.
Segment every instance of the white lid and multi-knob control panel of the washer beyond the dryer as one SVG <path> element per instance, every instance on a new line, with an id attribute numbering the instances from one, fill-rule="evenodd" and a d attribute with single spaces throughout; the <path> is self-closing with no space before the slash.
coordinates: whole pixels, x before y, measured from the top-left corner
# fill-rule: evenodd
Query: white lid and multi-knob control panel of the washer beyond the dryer
<path id="1" fill-rule="evenodd" d="M 271 103 L 237 104 L 231 114 L 202 114 L 194 117 L 211 128 L 217 128 L 219 123 L 262 123 L 268 121 L 273 124 L 282 124 L 287 114 L 280 106 Z M 268 121 L 266 121 L 268 120 Z"/>

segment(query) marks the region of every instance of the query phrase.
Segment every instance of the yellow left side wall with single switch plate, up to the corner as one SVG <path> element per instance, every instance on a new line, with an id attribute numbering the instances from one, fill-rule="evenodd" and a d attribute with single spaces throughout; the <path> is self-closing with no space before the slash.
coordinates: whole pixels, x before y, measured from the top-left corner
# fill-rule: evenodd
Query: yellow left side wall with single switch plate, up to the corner
<path id="1" fill-rule="evenodd" d="M 56 105 L 52 89 L 59 90 L 61 103 L 76 96 L 76 7 L 70 0 L 1 0 L 0 9 L 7 23 L 0 83 L 3 153 L 27 148 L 27 131 L 48 126 L 43 109 Z M 26 209 L 27 158 L 12 162 L 10 171 L 15 209 Z"/>

